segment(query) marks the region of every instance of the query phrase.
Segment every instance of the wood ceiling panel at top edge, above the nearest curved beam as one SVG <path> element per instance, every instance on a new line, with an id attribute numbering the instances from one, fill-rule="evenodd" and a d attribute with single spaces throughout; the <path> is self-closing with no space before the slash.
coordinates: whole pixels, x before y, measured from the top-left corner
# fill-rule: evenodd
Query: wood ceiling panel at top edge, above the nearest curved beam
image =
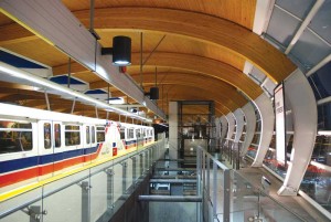
<path id="1" fill-rule="evenodd" d="M 71 11 L 89 9 L 89 0 L 62 0 Z M 149 7 L 164 8 L 197 13 L 229 20 L 249 30 L 253 29 L 256 0 L 96 0 L 95 8 Z"/>

